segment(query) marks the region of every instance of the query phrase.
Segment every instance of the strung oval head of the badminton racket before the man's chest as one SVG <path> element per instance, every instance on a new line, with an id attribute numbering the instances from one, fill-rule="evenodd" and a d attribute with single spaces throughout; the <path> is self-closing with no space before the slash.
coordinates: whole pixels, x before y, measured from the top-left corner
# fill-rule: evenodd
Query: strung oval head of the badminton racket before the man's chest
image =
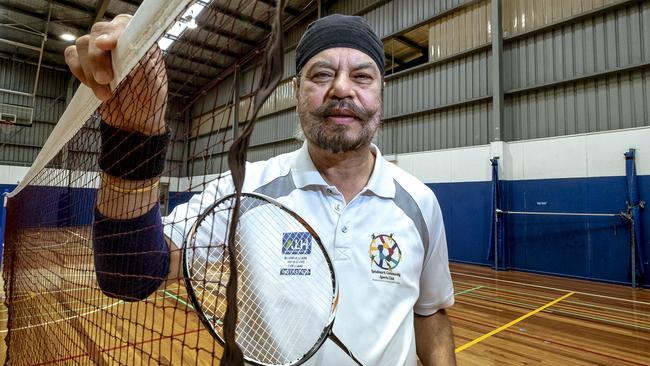
<path id="1" fill-rule="evenodd" d="M 227 242 L 236 194 L 197 218 L 183 243 L 183 275 L 204 326 L 224 344 Z M 258 193 L 242 193 L 235 252 L 239 273 L 237 343 L 254 365 L 300 365 L 329 336 L 338 303 L 334 266 L 299 215 Z"/>

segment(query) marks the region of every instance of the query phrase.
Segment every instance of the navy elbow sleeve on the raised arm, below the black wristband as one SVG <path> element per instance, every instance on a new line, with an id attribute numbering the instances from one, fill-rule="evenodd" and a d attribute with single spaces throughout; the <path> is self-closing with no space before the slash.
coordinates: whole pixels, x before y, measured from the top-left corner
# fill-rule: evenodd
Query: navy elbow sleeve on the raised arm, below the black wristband
<path id="1" fill-rule="evenodd" d="M 104 217 L 95 209 L 95 274 L 102 292 L 124 301 L 139 301 L 160 287 L 169 272 L 169 247 L 160 207 L 127 220 Z"/>

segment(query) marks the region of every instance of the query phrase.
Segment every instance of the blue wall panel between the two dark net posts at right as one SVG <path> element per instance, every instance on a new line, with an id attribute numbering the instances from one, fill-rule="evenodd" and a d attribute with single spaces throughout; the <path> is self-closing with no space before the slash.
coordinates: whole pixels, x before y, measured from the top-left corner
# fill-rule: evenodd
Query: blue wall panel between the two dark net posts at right
<path id="1" fill-rule="evenodd" d="M 620 213 L 626 208 L 625 177 L 504 183 L 509 211 Z M 506 235 L 515 269 L 628 281 L 629 238 L 621 218 L 507 215 Z"/>

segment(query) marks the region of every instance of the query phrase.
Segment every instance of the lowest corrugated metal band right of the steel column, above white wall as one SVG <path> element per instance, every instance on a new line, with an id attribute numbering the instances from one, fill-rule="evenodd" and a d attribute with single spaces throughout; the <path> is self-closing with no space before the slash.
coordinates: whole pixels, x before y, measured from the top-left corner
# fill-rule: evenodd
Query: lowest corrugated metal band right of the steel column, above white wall
<path id="1" fill-rule="evenodd" d="M 648 126 L 650 69 L 612 74 L 506 99 L 508 141 Z"/>

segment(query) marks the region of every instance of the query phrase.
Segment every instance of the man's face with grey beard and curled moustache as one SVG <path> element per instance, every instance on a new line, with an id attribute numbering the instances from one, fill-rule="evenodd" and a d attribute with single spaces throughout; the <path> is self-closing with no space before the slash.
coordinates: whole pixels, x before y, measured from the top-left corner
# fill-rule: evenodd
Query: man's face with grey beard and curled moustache
<path id="1" fill-rule="evenodd" d="M 330 48 L 312 57 L 297 93 L 307 140 L 332 153 L 368 146 L 381 119 L 382 83 L 372 58 L 356 49 Z"/>

